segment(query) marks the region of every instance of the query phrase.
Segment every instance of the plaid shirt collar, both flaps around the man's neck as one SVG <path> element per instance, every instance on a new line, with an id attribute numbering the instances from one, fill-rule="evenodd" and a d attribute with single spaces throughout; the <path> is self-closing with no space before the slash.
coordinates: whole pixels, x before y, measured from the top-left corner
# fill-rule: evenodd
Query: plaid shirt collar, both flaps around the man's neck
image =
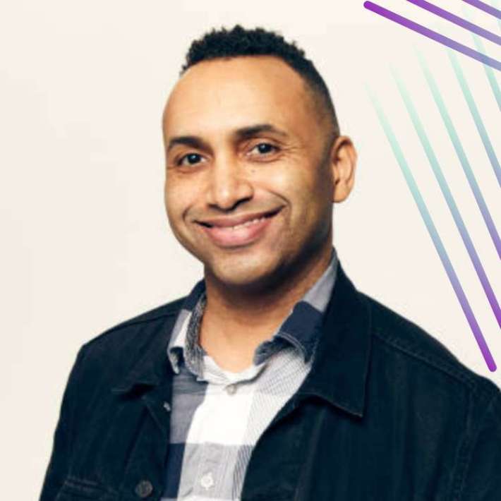
<path id="1" fill-rule="evenodd" d="M 305 363 L 310 360 L 320 335 L 322 316 L 334 288 L 337 266 L 337 253 L 332 247 L 326 270 L 294 305 L 272 337 L 257 347 L 253 359 L 254 365 L 265 362 L 284 345 L 292 345 L 298 349 Z M 198 377 L 203 374 L 203 356 L 206 353 L 198 344 L 198 333 L 205 303 L 205 281 L 200 280 L 183 303 L 167 348 L 167 355 L 175 373 L 179 373 L 179 363 L 183 357 L 184 363 L 192 373 Z"/>

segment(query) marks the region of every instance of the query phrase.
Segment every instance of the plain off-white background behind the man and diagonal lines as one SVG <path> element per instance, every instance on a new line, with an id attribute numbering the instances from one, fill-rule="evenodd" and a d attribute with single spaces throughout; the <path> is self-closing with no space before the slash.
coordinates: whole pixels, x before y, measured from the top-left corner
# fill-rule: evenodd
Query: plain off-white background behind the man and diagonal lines
<path id="1" fill-rule="evenodd" d="M 405 1 L 382 5 L 473 46 L 471 35 Z M 435 2 L 501 34 L 459 0 Z M 425 123 L 490 282 L 500 260 L 418 66 L 428 61 L 501 231 L 500 188 L 445 48 L 362 1 L 16 0 L 0 6 L 3 499 L 35 500 L 66 378 L 81 344 L 187 294 L 202 267 L 163 207 L 162 107 L 193 38 L 241 23 L 279 30 L 324 76 L 359 152 L 354 193 L 334 210 L 334 244 L 358 289 L 428 330 L 466 366 L 490 373 L 392 155 L 365 85 L 380 99 L 449 257 L 501 366 L 501 332 L 390 67 Z M 484 41 L 490 56 L 501 50 Z M 482 64 L 459 56 L 498 157 L 500 109 Z M 498 81 L 500 74 L 495 71 Z"/>

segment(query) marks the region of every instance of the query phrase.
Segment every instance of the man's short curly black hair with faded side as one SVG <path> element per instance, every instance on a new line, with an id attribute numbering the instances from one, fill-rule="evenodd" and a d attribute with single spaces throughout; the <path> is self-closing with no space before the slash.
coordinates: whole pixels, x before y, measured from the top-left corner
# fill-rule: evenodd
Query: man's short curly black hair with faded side
<path id="1" fill-rule="evenodd" d="M 247 30 L 235 25 L 231 30 L 221 28 L 205 33 L 203 37 L 191 42 L 186 54 L 186 62 L 181 67 L 181 75 L 191 66 L 211 59 L 226 59 L 238 56 L 276 56 L 299 74 L 312 91 L 319 111 L 326 114 L 330 121 L 333 136 L 339 135 L 334 104 L 324 79 L 315 65 L 306 59 L 305 52 L 296 42 L 286 42 L 282 35 L 263 28 Z"/>

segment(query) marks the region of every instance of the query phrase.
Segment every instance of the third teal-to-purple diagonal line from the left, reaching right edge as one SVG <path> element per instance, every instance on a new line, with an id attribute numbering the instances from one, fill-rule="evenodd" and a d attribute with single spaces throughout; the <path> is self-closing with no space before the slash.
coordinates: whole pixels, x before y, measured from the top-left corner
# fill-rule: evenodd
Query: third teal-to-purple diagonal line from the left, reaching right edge
<path id="1" fill-rule="evenodd" d="M 501 259 L 501 239 L 499 234 L 497 233 L 496 226 L 494 224 L 493 218 L 490 215 L 487 205 L 485 204 L 485 200 L 483 199 L 482 192 L 476 182 L 475 175 L 471 170 L 470 163 L 468 158 L 466 157 L 466 153 L 464 152 L 463 145 L 461 145 L 461 140 L 459 140 L 459 136 L 457 135 L 456 128 L 452 123 L 452 119 L 449 115 L 449 111 L 447 111 L 447 107 L 445 106 L 444 99 L 440 94 L 440 90 L 438 89 L 437 83 L 433 78 L 428 66 L 426 65 L 423 56 L 418 54 L 418 59 L 421 64 L 421 68 L 423 69 L 423 73 L 425 75 L 426 81 L 428 82 L 428 87 L 430 87 L 431 93 L 433 95 L 433 99 L 435 99 L 435 104 L 437 104 L 438 111 L 440 111 L 440 116 L 442 116 L 442 121 L 444 122 L 445 128 L 447 129 L 447 133 L 449 134 L 449 138 L 452 141 L 452 145 L 454 145 L 454 150 L 456 150 L 457 157 L 459 158 L 459 162 L 461 162 L 461 167 L 463 167 L 464 174 L 466 175 L 466 179 L 468 179 L 468 183 L 470 185 L 471 191 L 473 192 L 473 196 L 475 197 L 478 208 L 480 209 L 481 215 L 485 222 L 485 226 L 487 227 L 490 238 L 493 239 L 494 246 L 497 250 L 497 255 Z"/>

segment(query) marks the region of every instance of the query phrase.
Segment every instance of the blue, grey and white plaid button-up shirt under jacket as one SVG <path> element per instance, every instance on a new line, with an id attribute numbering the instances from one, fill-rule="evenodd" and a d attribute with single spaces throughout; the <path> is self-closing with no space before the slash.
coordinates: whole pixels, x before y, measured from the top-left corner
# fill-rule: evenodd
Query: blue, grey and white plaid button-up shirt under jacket
<path id="1" fill-rule="evenodd" d="M 255 443 L 310 370 L 336 272 L 332 248 L 322 277 L 240 373 L 219 368 L 198 344 L 205 282 L 195 285 L 167 348 L 175 375 L 162 501 L 239 500 Z"/>

